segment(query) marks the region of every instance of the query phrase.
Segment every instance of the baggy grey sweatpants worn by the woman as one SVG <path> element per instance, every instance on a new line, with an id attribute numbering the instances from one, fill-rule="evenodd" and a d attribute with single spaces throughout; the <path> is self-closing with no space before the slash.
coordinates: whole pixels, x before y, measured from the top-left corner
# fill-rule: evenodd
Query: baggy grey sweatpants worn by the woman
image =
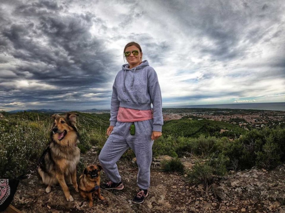
<path id="1" fill-rule="evenodd" d="M 151 176 L 152 145 L 151 133 L 153 120 L 134 122 L 135 135 L 130 134 L 132 122 L 117 121 L 112 133 L 109 135 L 103 149 L 99 154 L 99 162 L 107 177 L 113 183 L 121 182 L 116 162 L 130 147 L 137 158 L 139 171 L 137 174 L 137 185 L 140 189 L 148 189 Z"/>

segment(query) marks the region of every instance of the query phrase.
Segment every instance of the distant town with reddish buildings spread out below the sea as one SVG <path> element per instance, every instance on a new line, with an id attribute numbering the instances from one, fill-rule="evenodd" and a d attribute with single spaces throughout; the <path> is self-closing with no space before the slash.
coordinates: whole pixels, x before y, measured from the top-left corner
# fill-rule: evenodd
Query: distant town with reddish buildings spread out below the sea
<path id="1" fill-rule="evenodd" d="M 285 124 L 285 111 L 251 109 L 205 109 L 205 108 L 164 108 L 164 121 L 187 119 L 209 119 L 239 125 L 245 129 Z"/>

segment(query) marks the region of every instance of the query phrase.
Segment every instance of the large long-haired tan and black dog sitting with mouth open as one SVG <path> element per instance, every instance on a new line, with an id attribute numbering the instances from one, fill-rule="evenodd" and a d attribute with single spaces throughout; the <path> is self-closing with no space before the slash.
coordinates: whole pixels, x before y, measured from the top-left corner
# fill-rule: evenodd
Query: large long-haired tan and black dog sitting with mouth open
<path id="1" fill-rule="evenodd" d="M 66 113 L 64 115 L 54 114 L 52 130 L 50 133 L 47 154 L 42 160 L 38 174 L 42 183 L 47 185 L 45 191 L 50 193 L 51 187 L 59 183 L 67 201 L 73 201 L 66 185 L 71 183 L 78 192 L 76 181 L 76 167 L 79 162 L 80 149 L 79 133 L 76 128 L 76 113 Z"/>

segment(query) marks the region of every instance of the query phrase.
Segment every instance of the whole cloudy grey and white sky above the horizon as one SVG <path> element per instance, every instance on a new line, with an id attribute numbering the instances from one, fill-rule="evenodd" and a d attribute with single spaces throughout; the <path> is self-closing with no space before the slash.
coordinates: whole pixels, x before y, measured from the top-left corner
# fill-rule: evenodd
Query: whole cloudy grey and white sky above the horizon
<path id="1" fill-rule="evenodd" d="M 285 102 L 284 0 L 1 0 L 0 110 L 108 109 L 137 41 L 163 106 Z"/>

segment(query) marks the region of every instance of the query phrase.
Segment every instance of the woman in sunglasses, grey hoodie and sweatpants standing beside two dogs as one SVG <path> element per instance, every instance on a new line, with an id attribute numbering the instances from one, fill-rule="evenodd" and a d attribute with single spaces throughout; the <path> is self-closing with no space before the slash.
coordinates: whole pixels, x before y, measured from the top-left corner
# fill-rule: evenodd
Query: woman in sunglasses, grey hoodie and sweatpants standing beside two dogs
<path id="1" fill-rule="evenodd" d="M 116 162 L 129 147 L 134 151 L 139 191 L 132 202 L 140 204 L 148 196 L 153 141 L 162 135 L 162 98 L 156 72 L 147 60 L 142 61 L 140 45 L 126 44 L 124 57 L 128 64 L 122 66 L 113 84 L 109 138 L 99 162 L 110 179 L 102 188 L 122 190 Z"/>

